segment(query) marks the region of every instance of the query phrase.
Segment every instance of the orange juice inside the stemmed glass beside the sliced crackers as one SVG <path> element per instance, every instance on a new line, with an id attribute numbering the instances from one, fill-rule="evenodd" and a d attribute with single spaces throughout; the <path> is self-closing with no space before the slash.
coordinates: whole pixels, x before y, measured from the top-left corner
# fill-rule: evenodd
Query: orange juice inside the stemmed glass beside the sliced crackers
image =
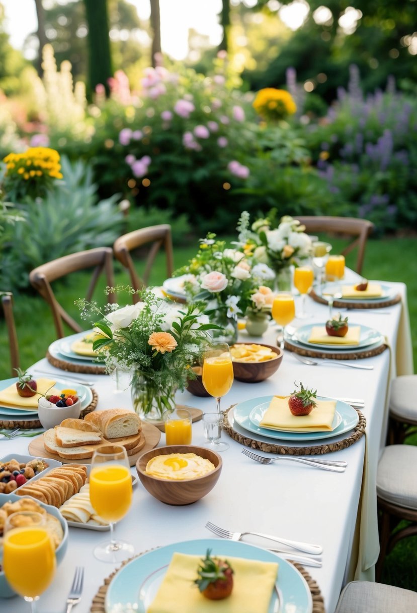
<path id="1" fill-rule="evenodd" d="M 117 522 L 128 512 L 132 498 L 131 474 L 119 464 L 93 466 L 90 502 L 100 517 Z"/>

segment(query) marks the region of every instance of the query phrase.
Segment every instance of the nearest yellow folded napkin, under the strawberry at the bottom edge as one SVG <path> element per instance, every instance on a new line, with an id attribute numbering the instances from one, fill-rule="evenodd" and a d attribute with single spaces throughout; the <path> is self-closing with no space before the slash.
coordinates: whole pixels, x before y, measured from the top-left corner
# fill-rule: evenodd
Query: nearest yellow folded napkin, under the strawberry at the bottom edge
<path id="1" fill-rule="evenodd" d="M 268 612 L 278 563 L 227 556 L 234 569 L 233 592 L 224 600 L 208 600 L 193 583 L 204 556 L 175 553 L 147 613 Z"/>

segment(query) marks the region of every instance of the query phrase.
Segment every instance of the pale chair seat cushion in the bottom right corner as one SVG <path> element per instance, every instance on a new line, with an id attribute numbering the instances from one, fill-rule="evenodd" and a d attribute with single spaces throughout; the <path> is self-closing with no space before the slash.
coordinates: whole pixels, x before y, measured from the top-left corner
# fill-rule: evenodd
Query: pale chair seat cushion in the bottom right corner
<path id="1" fill-rule="evenodd" d="M 334 613 L 415 613 L 417 593 L 393 585 L 352 581 L 346 585 Z"/>

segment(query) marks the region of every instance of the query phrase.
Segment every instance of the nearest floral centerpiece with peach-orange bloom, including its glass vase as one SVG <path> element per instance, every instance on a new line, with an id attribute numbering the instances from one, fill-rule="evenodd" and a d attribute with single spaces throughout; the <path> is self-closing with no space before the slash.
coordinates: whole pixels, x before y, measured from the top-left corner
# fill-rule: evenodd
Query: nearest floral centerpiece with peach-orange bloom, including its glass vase
<path id="1" fill-rule="evenodd" d="M 120 292 L 131 288 L 108 288 Z M 79 300 L 81 316 L 91 311 L 102 316 L 94 322 L 97 339 L 93 349 L 105 360 L 106 370 L 131 371 L 131 392 L 135 411 L 146 419 L 161 419 L 175 408 L 175 390 L 183 390 L 196 375 L 191 366 L 201 357 L 202 346 L 210 340 L 204 305 L 177 305 L 160 297 L 157 290 L 139 291 L 141 302 L 126 307 L 108 305 L 102 313 L 93 303 Z"/>

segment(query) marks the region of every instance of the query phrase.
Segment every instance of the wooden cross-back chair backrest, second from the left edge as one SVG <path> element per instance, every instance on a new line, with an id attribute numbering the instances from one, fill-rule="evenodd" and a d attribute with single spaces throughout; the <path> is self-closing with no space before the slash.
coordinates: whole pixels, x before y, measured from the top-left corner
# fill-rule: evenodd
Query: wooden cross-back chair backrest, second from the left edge
<path id="1" fill-rule="evenodd" d="M 52 281 L 60 279 L 70 273 L 93 267 L 94 271 L 86 295 L 86 299 L 91 300 L 94 288 L 101 273 L 105 274 L 107 285 L 109 287 L 114 286 L 113 251 L 110 247 L 97 247 L 87 251 L 78 251 L 78 253 L 72 253 L 68 256 L 58 257 L 56 260 L 46 262 L 46 264 L 34 268 L 29 274 L 29 280 L 32 286 L 51 307 L 57 338 L 65 336 L 64 327 L 62 325 L 63 321 L 65 321 L 75 332 L 81 332 L 82 329 L 57 301 L 51 287 Z M 110 293 L 108 302 L 116 302 L 116 295 Z"/>

